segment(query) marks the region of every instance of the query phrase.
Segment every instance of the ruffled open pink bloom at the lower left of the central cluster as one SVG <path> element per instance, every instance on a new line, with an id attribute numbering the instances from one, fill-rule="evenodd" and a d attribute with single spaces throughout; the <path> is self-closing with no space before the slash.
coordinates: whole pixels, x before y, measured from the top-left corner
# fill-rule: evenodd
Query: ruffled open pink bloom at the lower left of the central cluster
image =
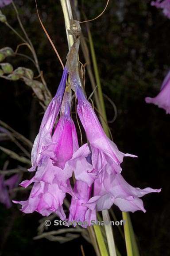
<path id="1" fill-rule="evenodd" d="M 46 161 L 46 168 L 50 168 L 50 161 Z M 15 204 L 21 204 L 21 211 L 25 213 L 39 212 L 42 216 L 49 216 L 51 213 L 56 213 L 60 219 L 65 220 L 66 215 L 63 211 L 62 204 L 66 196 L 66 192 L 72 192 L 70 183 L 58 184 L 57 180 L 47 183 L 37 181 L 35 176 L 31 180 L 25 180 L 20 185 L 27 188 L 34 182 L 30 196 L 26 201 L 13 201 Z"/>

